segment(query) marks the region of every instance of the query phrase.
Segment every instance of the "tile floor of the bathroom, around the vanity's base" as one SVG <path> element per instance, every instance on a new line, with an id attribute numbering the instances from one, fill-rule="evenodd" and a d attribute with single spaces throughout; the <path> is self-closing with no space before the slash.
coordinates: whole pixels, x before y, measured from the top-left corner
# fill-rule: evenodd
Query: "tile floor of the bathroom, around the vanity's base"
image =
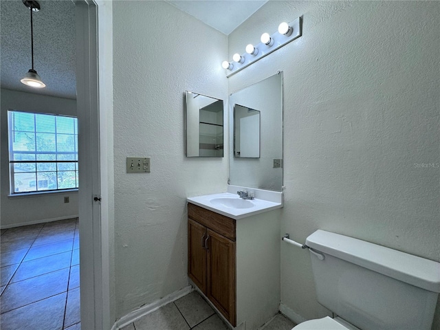
<path id="1" fill-rule="evenodd" d="M 295 324 L 278 314 L 263 329 L 290 330 Z M 120 330 L 229 330 L 198 292 L 169 303 Z"/>

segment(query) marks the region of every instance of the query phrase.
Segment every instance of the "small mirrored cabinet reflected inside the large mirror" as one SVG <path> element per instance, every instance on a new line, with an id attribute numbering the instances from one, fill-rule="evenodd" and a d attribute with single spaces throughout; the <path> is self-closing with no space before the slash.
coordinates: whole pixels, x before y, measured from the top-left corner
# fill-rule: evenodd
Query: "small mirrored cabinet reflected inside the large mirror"
<path id="1" fill-rule="evenodd" d="M 234 157 L 260 157 L 260 111 L 234 105 Z"/>

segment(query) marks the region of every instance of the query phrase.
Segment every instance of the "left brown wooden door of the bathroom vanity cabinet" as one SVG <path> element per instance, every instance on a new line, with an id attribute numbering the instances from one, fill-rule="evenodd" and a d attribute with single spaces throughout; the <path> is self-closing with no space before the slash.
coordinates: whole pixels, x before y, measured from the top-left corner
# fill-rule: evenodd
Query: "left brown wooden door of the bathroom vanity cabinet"
<path id="1" fill-rule="evenodd" d="M 188 276 L 206 294 L 206 227 L 188 219 Z"/>

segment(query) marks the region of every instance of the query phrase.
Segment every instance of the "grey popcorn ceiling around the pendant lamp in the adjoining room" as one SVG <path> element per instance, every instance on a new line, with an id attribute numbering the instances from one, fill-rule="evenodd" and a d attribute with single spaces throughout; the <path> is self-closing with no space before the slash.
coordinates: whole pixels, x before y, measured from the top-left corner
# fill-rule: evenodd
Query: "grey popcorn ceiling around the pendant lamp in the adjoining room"
<path id="1" fill-rule="evenodd" d="M 32 67 L 30 10 L 21 0 L 0 1 L 1 88 L 62 98 L 76 98 L 75 5 L 72 1 L 39 1 L 34 12 L 34 69 L 45 88 L 23 85 Z"/>

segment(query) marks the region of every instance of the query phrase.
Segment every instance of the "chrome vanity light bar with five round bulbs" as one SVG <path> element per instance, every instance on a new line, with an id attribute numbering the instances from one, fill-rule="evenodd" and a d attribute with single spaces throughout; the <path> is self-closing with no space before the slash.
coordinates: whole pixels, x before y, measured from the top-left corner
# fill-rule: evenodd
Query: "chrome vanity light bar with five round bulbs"
<path id="1" fill-rule="evenodd" d="M 232 56 L 234 64 L 228 61 L 224 61 L 223 63 L 221 63 L 221 66 L 223 67 L 223 69 L 227 70 L 226 76 L 230 77 L 232 76 L 232 74 L 235 74 L 245 67 L 248 67 L 248 65 L 259 61 L 260 58 L 263 58 L 270 53 L 275 52 L 290 41 L 299 38 L 301 34 L 301 17 L 298 17 L 298 19 L 295 19 L 290 23 L 283 22 L 278 25 L 278 30 L 272 35 L 268 33 L 263 33 L 260 39 L 261 43 L 259 43 L 258 45 L 252 45 L 250 43 L 246 46 L 245 53 L 241 55 L 234 54 L 234 56 Z"/>

